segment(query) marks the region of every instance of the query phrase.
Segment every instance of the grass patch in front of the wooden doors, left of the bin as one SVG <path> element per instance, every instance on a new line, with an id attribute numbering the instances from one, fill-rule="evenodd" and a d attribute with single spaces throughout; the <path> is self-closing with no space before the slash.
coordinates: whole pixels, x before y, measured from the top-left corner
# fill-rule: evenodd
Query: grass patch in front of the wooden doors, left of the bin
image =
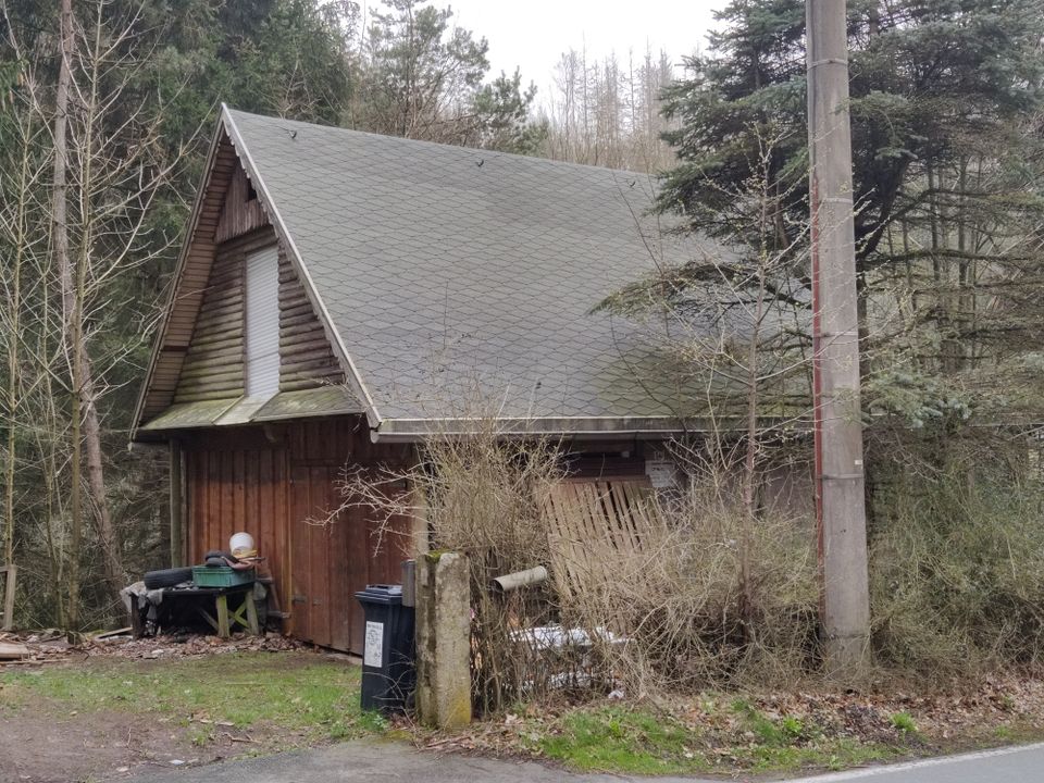
<path id="1" fill-rule="evenodd" d="M 316 742 L 383 731 L 359 708 L 358 667 L 309 655 L 235 652 L 157 661 L 103 660 L 0 674 L 14 710 L 33 704 L 62 714 L 105 710 L 163 716 L 210 743 L 219 723 L 278 725 L 289 738 Z"/>

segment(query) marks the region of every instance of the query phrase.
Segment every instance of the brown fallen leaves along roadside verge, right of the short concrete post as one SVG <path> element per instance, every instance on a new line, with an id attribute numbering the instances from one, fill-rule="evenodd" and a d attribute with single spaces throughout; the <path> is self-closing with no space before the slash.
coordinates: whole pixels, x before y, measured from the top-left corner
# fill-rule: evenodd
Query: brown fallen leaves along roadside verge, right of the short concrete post
<path id="1" fill-rule="evenodd" d="M 738 708 L 741 704 L 746 706 Z M 461 732 L 414 736 L 420 746 L 442 751 L 538 757 L 542 742 L 557 736 L 571 712 L 592 707 L 529 704 Z M 683 759 L 701 756 L 723 767 L 750 763 L 766 743 L 820 756 L 838 742 L 891 747 L 900 755 L 943 753 L 1044 733 L 1044 671 L 995 672 L 978 682 L 925 691 L 907 684 L 869 692 L 798 688 L 667 696 L 656 700 L 654 711 L 684 728 L 688 738 L 679 751 Z M 751 716 L 765 723 L 754 725 Z M 906 725 L 915 729 L 904 731 Z M 779 736 L 768 736 L 773 732 Z"/>

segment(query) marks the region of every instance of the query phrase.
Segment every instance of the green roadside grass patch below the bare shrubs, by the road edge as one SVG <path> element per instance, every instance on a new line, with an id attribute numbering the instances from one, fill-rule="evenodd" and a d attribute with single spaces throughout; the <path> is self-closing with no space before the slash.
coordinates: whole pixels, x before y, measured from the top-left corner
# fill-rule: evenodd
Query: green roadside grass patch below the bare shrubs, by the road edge
<path id="1" fill-rule="evenodd" d="M 575 709 L 521 736 L 530 749 L 571 769 L 631 774 L 837 770 L 904 753 L 826 736 L 807 720 L 770 718 L 744 699 L 714 709 L 699 726 L 630 705 Z"/>

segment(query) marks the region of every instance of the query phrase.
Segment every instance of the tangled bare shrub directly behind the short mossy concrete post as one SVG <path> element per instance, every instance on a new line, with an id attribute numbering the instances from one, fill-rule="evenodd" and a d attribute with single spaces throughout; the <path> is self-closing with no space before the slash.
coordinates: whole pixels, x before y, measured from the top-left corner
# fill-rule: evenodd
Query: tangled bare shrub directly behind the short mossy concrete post
<path id="1" fill-rule="evenodd" d="M 345 504 L 376 512 L 389 534 L 393 521 L 426 521 L 433 549 L 464 552 L 471 569 L 472 680 L 480 712 L 504 709 L 523 695 L 543 693 L 550 669 L 526 629 L 555 612 L 545 589 L 499 595 L 494 577 L 549 564 L 543 505 L 561 476 L 555 443 L 505 437 L 492 423 L 470 436 L 434 436 L 413 468 L 352 471 L 341 485 Z M 403 492 L 403 483 L 410 492 Z"/>

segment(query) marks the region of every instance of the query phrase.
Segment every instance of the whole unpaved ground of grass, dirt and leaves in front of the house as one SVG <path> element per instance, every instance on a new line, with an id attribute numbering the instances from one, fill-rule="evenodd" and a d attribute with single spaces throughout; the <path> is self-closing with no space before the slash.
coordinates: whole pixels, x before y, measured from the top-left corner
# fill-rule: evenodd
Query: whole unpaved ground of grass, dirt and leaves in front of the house
<path id="1" fill-rule="evenodd" d="M 274 634 L 226 642 L 117 636 L 76 647 L 57 633 L 0 634 L 0 642 L 29 648 L 24 660 L 0 661 L 0 783 L 120 781 L 149 770 L 372 736 L 388 728 L 368 724 L 372 717 L 359 711 L 357 661 Z M 239 694 L 233 686 L 240 684 L 271 709 L 229 711 Z M 189 687 L 196 688 L 192 696 L 185 695 Z M 746 706 L 737 707 L 741 703 Z M 684 745 L 672 748 L 667 737 L 666 746 L 644 748 L 636 736 L 655 734 L 646 719 L 683 732 Z M 892 684 L 862 694 L 705 694 L 655 708 L 645 700 L 552 703 L 449 735 L 408 724 L 398 730 L 430 751 L 550 760 L 579 769 L 638 771 L 644 768 L 625 770 L 619 759 L 611 761 L 616 751 L 631 763 L 637 748 L 656 763 L 666 759 L 675 773 L 793 773 L 834 768 L 824 754 L 846 743 L 855 755 L 840 759 L 837 768 L 1037 739 L 1044 736 L 1044 673 L 936 684 L 928 695 L 912 684 Z M 584 761 L 588 750 L 594 756 Z M 672 760 L 675 750 L 680 756 Z M 686 759 L 694 755 L 706 765 L 688 769 Z M 609 767 L 601 766 L 607 758 Z"/>

